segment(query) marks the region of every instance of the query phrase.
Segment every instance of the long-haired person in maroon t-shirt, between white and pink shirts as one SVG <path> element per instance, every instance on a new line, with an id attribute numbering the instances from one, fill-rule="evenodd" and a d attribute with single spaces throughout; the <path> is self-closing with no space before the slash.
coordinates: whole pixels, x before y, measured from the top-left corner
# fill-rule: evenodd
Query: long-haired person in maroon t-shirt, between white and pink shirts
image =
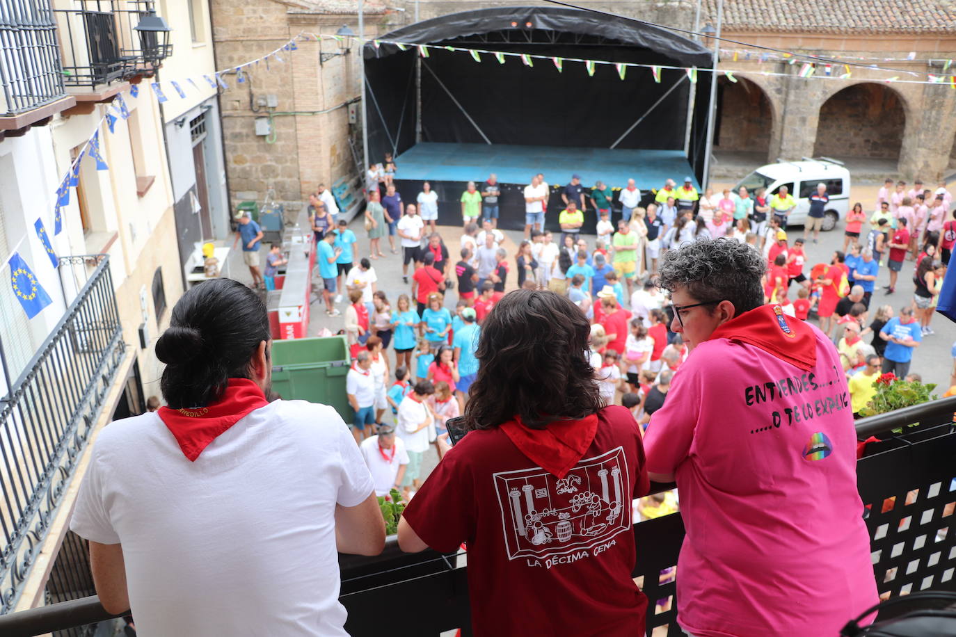
<path id="1" fill-rule="evenodd" d="M 467 435 L 399 523 L 405 551 L 467 542 L 474 634 L 644 632 L 631 502 L 649 487 L 641 435 L 603 407 L 590 326 L 551 291 L 506 294 L 482 324 Z"/>

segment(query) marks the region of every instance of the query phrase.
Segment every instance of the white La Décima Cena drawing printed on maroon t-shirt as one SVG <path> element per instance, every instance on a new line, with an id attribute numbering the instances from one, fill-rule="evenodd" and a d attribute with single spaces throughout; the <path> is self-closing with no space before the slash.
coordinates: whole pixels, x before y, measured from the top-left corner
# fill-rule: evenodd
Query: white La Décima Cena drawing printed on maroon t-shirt
<path id="1" fill-rule="evenodd" d="M 623 447 L 582 458 L 564 478 L 540 467 L 493 474 L 509 560 L 550 568 L 610 548 L 631 530 Z"/>

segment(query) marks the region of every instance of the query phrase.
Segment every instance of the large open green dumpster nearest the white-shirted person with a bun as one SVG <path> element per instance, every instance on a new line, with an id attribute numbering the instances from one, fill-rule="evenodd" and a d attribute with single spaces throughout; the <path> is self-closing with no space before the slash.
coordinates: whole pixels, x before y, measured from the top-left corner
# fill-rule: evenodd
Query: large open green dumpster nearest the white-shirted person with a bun
<path id="1" fill-rule="evenodd" d="M 344 336 L 272 341 L 272 391 L 286 400 L 331 405 L 352 422 L 355 414 L 345 395 L 350 365 Z"/>

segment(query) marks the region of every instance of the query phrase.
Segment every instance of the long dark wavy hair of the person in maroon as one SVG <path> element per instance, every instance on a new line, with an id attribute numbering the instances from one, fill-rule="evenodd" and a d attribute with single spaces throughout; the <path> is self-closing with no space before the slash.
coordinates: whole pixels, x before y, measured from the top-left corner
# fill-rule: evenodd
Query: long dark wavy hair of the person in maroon
<path id="1" fill-rule="evenodd" d="M 550 291 L 506 294 L 482 323 L 481 363 L 465 407 L 468 429 L 491 429 L 515 415 L 532 429 L 603 407 L 585 356 L 591 326 L 580 308 Z"/>

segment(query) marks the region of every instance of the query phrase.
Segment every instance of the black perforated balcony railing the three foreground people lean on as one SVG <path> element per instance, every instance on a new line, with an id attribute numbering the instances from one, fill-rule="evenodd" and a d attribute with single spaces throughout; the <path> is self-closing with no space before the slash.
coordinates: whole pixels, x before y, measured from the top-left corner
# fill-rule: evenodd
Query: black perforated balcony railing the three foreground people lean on
<path id="1" fill-rule="evenodd" d="M 857 463 L 857 475 L 874 577 L 883 599 L 930 588 L 956 590 L 954 411 L 956 397 L 949 397 L 858 421 L 859 439 L 881 438 L 867 447 Z M 900 428 L 904 428 L 902 435 L 893 434 Z M 652 486 L 653 491 L 662 491 L 674 485 Z M 634 536 L 638 560 L 632 574 L 650 600 L 646 634 L 680 637 L 676 581 L 662 583 L 660 576 L 677 564 L 684 521 L 680 514 L 644 520 L 634 525 Z M 348 610 L 345 629 L 350 635 L 382 634 L 382 600 L 413 597 L 428 600 L 428 612 L 403 618 L 402 634 L 436 637 L 455 628 L 461 628 L 463 635 L 471 634 L 466 554 L 407 555 L 393 536 L 379 556 L 340 555 L 338 563 L 339 601 Z M 669 604 L 656 605 L 660 600 Z M 89 596 L 0 616 L 0 635 L 32 637 L 117 616 L 107 613 L 96 596 Z"/>

